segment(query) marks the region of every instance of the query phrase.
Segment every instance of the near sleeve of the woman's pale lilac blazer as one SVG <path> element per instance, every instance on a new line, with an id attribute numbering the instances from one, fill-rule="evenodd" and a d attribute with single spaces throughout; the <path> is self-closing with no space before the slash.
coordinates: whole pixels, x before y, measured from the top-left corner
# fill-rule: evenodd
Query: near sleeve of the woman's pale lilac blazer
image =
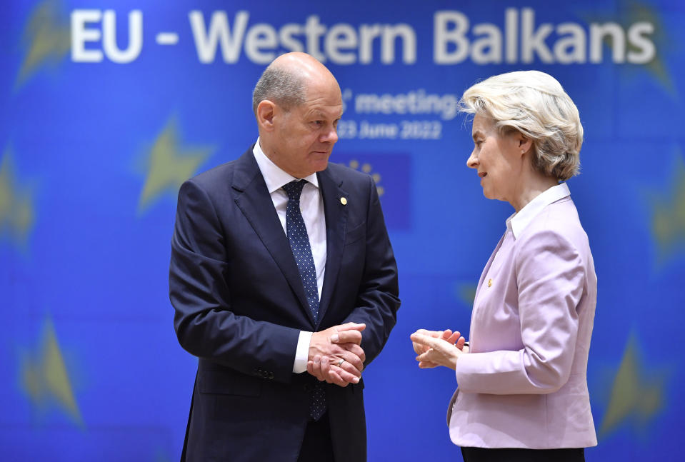
<path id="1" fill-rule="evenodd" d="M 514 259 L 524 348 L 461 356 L 456 380 L 462 393 L 553 393 L 571 374 L 576 307 L 586 279 L 583 258 L 558 231 L 522 239 Z"/>

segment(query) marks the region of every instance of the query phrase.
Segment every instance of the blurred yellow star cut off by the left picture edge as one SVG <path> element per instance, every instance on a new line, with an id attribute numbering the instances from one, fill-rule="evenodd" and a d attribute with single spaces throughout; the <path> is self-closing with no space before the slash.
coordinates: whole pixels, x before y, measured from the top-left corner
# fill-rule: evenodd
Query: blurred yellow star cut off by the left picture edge
<path id="1" fill-rule="evenodd" d="M 21 246 L 26 246 L 36 213 L 28 187 L 19 189 L 14 174 L 14 161 L 10 148 L 5 150 L 0 163 L 0 238 L 9 236 Z"/>

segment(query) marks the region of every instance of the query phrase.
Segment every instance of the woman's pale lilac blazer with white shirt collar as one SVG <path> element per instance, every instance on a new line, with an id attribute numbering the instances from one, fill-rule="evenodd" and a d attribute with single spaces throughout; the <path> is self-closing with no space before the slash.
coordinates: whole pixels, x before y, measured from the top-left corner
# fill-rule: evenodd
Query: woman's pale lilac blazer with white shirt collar
<path id="1" fill-rule="evenodd" d="M 459 446 L 597 444 L 586 381 L 597 298 L 588 238 L 565 184 L 534 201 L 534 216 L 508 222 L 478 284 L 448 411 Z"/>

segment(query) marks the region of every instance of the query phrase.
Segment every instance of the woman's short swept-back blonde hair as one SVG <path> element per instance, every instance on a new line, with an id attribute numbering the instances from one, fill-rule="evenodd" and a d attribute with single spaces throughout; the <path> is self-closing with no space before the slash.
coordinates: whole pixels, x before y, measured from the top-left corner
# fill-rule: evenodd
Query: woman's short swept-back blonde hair
<path id="1" fill-rule="evenodd" d="M 554 77 L 540 71 L 491 76 L 464 91 L 460 111 L 494 120 L 500 134 L 516 130 L 533 141 L 533 166 L 565 181 L 580 170 L 583 126 L 578 109 Z"/>

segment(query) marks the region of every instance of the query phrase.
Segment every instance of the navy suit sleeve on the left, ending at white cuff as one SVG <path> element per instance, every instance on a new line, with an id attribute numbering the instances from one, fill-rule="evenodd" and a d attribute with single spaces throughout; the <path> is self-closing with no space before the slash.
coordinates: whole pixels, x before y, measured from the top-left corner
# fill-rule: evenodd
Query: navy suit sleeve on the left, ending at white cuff
<path id="1" fill-rule="evenodd" d="M 169 265 L 179 343 L 236 371 L 289 382 L 299 331 L 231 311 L 226 236 L 206 191 L 186 181 L 179 191 Z"/>

